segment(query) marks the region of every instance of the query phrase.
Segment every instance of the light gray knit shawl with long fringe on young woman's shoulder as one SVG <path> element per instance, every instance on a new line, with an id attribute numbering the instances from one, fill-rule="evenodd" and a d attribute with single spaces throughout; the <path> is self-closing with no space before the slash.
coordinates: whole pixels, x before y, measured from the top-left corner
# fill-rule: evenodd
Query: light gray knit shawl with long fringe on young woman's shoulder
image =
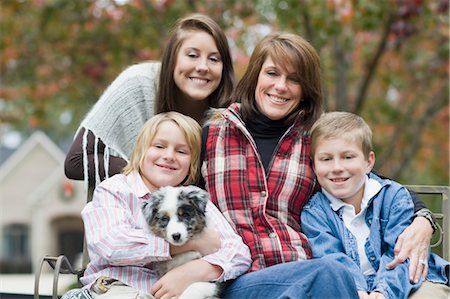
<path id="1" fill-rule="evenodd" d="M 87 186 L 87 133 L 105 144 L 104 165 L 108 174 L 109 155 L 129 161 L 137 134 L 142 125 L 154 115 L 156 89 L 161 64 L 151 61 L 135 64 L 125 69 L 105 90 L 81 122 L 78 131 L 85 129 L 83 138 L 84 177 Z M 75 134 L 76 135 L 76 134 Z M 97 156 L 97 155 L 95 155 Z M 98 160 L 95 160 L 96 182 L 100 182 Z"/>

